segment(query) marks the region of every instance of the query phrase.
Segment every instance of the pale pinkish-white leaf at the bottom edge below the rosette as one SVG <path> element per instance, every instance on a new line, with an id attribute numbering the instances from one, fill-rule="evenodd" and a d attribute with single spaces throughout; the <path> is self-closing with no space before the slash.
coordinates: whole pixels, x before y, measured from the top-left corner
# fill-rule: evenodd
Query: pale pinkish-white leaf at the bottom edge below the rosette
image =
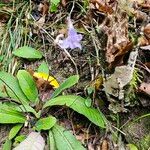
<path id="1" fill-rule="evenodd" d="M 31 132 L 28 137 L 13 150 L 44 150 L 45 141 L 39 132 Z"/>

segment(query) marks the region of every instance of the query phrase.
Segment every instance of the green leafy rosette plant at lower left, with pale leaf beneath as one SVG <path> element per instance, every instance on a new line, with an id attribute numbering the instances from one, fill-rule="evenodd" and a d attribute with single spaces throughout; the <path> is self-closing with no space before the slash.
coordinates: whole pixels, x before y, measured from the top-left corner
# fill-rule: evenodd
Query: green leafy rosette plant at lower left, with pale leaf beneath
<path id="1" fill-rule="evenodd" d="M 41 70 L 40 68 L 38 70 Z M 0 102 L 0 124 L 14 125 L 3 148 L 9 150 L 13 141 L 15 141 L 13 146 L 19 141 L 21 143 L 15 150 L 22 149 L 24 146 L 31 149 L 31 147 L 36 147 L 40 142 L 41 147 L 39 148 L 43 149 L 45 142 L 41 132 L 47 131 L 49 149 L 85 149 L 71 132 L 66 131 L 64 127 L 58 124 L 54 116 L 45 115 L 45 112 L 52 106 L 65 105 L 84 115 L 95 125 L 105 128 L 103 116 L 97 109 L 87 106 L 86 99 L 76 95 L 60 95 L 62 91 L 76 84 L 78 80 L 78 75 L 69 77 L 56 88 L 49 100 L 43 102 L 39 98 L 35 80 L 29 72 L 19 70 L 16 77 L 14 77 L 7 72 L 0 71 L 0 97 L 6 100 L 10 99 L 10 101 Z M 37 109 L 39 106 L 41 106 L 40 109 Z M 24 127 L 30 127 L 30 131 L 32 131 L 27 138 L 23 135 L 18 135 L 19 131 Z M 64 146 L 62 147 L 62 145 Z"/>

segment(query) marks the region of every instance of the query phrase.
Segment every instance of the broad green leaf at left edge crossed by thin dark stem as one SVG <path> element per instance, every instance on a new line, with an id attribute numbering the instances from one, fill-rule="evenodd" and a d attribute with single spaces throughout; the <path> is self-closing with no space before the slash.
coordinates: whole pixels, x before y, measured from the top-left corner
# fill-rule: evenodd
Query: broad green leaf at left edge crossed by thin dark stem
<path id="1" fill-rule="evenodd" d="M 8 95 L 12 98 L 12 100 L 17 101 L 18 103 L 28 103 L 29 102 L 27 97 L 22 92 L 22 90 L 19 86 L 18 80 L 13 75 L 11 75 L 7 72 L 4 72 L 4 71 L 0 71 L 0 81 L 1 81 L 0 82 L 0 91 L 2 93 L 7 95 L 6 94 L 6 91 L 7 91 Z M 4 86 L 6 87 L 6 91 L 4 91 L 4 88 L 2 88 Z"/>

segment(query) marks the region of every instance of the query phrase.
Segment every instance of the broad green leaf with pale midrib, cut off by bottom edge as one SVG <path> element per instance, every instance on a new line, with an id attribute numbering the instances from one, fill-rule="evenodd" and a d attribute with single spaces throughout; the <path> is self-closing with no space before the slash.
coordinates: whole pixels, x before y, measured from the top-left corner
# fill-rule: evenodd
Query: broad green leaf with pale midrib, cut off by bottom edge
<path id="1" fill-rule="evenodd" d="M 52 132 L 58 150 L 85 150 L 75 136 L 65 128 L 56 124 Z"/>

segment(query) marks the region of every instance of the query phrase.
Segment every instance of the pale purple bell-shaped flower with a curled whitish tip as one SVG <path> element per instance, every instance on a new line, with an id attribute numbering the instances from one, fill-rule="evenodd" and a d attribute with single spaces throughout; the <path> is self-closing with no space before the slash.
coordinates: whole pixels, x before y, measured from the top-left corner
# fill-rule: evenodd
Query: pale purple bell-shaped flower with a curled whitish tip
<path id="1" fill-rule="evenodd" d="M 80 49 L 82 49 L 81 44 L 80 44 L 80 41 L 82 40 L 82 35 L 77 34 L 77 31 L 73 27 L 73 24 L 69 17 L 67 18 L 67 20 L 68 20 L 68 36 L 67 36 L 67 38 L 61 40 L 60 37 L 62 37 L 62 34 L 58 35 L 56 38 L 57 44 L 61 48 L 70 48 L 70 49 L 80 48 Z"/>

